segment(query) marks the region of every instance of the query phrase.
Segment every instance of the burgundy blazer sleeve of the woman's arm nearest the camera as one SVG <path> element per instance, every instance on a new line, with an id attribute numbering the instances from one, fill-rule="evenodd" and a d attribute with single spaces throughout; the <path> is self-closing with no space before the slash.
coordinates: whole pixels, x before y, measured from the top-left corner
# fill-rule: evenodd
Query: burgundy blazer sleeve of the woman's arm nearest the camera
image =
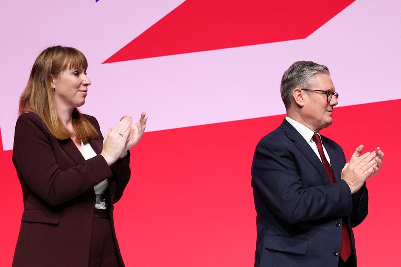
<path id="1" fill-rule="evenodd" d="M 24 183 L 43 201 L 59 205 L 112 176 L 101 155 L 61 170 L 54 153 L 50 133 L 39 116 L 21 115 L 16 123 L 13 161 Z"/>

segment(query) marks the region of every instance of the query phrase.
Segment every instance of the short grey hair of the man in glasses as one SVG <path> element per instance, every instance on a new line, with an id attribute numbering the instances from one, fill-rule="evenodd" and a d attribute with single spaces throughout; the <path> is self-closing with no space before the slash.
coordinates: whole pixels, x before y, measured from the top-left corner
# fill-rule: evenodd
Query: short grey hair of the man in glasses
<path id="1" fill-rule="evenodd" d="M 312 61 L 297 61 L 284 72 L 281 78 L 280 93 L 286 109 L 291 106 L 294 88 L 309 89 L 313 86 L 313 75 L 317 73 L 330 75 L 326 66 Z"/>

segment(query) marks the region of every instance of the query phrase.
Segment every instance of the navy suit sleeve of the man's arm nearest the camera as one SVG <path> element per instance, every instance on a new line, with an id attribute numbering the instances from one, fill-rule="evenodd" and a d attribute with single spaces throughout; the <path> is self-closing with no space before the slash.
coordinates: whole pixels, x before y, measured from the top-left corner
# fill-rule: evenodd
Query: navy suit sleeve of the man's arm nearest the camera
<path id="1" fill-rule="evenodd" d="M 295 159 L 279 142 L 262 139 L 256 147 L 252 186 L 272 211 L 289 224 L 352 213 L 352 197 L 344 181 L 304 186 Z"/>

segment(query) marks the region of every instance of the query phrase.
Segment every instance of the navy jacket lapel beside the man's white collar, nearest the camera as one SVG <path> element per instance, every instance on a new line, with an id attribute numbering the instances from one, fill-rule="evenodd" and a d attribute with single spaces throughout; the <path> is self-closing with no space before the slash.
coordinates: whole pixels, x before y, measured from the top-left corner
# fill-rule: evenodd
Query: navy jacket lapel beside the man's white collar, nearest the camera
<path id="1" fill-rule="evenodd" d="M 315 166 L 316 170 L 320 174 L 320 177 L 322 178 L 323 183 L 325 185 L 331 184 L 329 175 L 327 174 L 322 162 L 317 157 L 310 145 L 302 137 L 302 135 L 285 118 L 283 123 L 280 125 L 280 128 L 284 130 L 288 138 L 294 142 L 294 145 L 305 156 L 305 158 L 309 160 L 313 166 Z"/>

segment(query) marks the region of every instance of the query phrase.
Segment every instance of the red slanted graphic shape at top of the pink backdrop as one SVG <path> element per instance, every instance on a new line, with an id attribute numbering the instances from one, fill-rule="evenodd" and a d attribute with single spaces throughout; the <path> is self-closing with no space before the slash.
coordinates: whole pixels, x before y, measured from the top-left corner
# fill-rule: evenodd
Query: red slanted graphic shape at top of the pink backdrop
<path id="1" fill-rule="evenodd" d="M 353 0 L 187 0 L 104 63 L 306 38 Z"/>

